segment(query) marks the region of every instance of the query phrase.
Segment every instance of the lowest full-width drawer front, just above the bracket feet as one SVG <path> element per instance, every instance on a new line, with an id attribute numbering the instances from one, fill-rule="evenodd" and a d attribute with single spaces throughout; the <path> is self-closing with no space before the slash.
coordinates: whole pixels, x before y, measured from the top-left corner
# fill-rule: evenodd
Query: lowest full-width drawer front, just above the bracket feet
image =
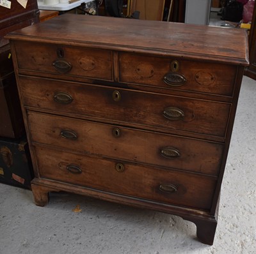
<path id="1" fill-rule="evenodd" d="M 136 198 L 209 210 L 214 177 L 36 147 L 41 177 Z"/>

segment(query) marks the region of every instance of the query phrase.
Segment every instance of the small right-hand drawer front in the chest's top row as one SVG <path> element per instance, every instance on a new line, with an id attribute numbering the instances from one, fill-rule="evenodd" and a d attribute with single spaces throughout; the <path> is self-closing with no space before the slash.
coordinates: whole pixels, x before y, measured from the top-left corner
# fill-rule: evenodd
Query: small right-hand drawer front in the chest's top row
<path id="1" fill-rule="evenodd" d="M 232 96 L 236 66 L 119 54 L 120 81 L 166 89 Z M 227 75 L 228 73 L 228 75 Z"/>

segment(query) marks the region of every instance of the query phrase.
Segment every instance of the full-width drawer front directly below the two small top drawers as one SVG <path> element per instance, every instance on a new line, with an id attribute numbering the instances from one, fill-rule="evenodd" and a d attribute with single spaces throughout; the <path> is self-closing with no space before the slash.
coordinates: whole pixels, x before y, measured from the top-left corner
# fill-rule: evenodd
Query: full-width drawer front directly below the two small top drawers
<path id="1" fill-rule="evenodd" d="M 27 106 L 225 137 L 230 103 L 20 77 Z M 144 128 L 144 127 L 143 127 Z"/>

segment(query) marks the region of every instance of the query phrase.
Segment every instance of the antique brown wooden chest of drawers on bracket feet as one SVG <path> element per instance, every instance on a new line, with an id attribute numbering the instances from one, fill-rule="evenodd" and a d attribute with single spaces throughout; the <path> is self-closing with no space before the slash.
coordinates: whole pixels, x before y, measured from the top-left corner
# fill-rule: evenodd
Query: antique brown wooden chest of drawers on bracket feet
<path id="1" fill-rule="evenodd" d="M 244 31 L 62 15 L 8 39 L 36 205 L 63 190 L 154 209 L 212 244 Z"/>

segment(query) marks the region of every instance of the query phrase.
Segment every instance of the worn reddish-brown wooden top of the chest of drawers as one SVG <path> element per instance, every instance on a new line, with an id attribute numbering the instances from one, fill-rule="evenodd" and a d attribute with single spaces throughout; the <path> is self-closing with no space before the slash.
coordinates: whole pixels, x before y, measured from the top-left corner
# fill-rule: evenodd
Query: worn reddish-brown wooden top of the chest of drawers
<path id="1" fill-rule="evenodd" d="M 7 38 L 248 64 L 243 29 L 65 14 Z"/>

